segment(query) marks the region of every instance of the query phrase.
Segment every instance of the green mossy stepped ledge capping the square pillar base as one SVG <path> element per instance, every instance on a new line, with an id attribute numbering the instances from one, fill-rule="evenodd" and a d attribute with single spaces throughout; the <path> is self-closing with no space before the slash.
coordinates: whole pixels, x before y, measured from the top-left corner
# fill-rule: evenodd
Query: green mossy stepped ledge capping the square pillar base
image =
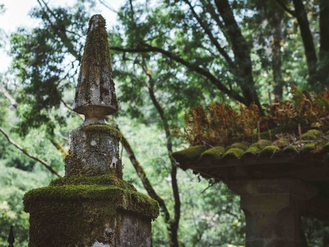
<path id="1" fill-rule="evenodd" d="M 159 213 L 158 203 L 155 200 L 138 192 L 132 184 L 111 175 L 95 177 L 77 175 L 53 180 L 47 187 L 32 189 L 25 193 L 23 198 L 25 209 L 29 211 L 33 203 L 39 200 L 63 202 L 116 200 L 118 208 L 135 211 L 152 219 L 155 219 Z"/>

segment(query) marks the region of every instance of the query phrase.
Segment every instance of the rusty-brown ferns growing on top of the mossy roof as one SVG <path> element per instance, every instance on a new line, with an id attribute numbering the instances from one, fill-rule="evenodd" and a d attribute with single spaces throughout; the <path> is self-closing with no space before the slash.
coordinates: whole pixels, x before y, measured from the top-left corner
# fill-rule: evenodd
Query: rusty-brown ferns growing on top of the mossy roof
<path id="1" fill-rule="evenodd" d="M 271 131 L 273 138 L 280 133 L 302 134 L 310 128 L 323 132 L 329 128 L 329 94 L 325 89 L 319 94 L 300 92 L 292 87 L 291 99 L 266 104 L 266 115 L 251 104 L 249 108 L 240 104 L 239 111 L 224 102 L 210 102 L 191 108 L 185 114 L 182 136 L 194 145 L 228 144 L 233 140 L 257 136 L 260 132 Z M 255 138 L 254 138 L 255 139 Z"/>

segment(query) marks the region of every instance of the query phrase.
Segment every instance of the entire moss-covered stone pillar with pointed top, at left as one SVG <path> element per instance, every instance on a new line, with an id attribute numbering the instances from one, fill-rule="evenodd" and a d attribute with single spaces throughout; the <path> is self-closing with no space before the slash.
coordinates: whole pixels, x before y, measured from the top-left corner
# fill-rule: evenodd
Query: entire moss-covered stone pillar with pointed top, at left
<path id="1" fill-rule="evenodd" d="M 65 176 L 23 199 L 29 246 L 151 246 L 158 203 L 122 180 L 121 134 L 104 122 L 118 103 L 101 15 L 89 21 L 73 110 L 85 121 L 70 132 Z"/>

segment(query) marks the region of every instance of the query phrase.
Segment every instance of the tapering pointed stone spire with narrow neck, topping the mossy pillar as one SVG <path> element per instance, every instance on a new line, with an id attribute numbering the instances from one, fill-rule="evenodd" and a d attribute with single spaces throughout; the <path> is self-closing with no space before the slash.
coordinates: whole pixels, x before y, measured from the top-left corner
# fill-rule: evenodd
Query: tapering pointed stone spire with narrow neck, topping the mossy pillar
<path id="1" fill-rule="evenodd" d="M 104 123 L 105 115 L 118 111 L 105 19 L 100 14 L 89 21 L 72 108 L 85 115 L 83 125 Z"/>

